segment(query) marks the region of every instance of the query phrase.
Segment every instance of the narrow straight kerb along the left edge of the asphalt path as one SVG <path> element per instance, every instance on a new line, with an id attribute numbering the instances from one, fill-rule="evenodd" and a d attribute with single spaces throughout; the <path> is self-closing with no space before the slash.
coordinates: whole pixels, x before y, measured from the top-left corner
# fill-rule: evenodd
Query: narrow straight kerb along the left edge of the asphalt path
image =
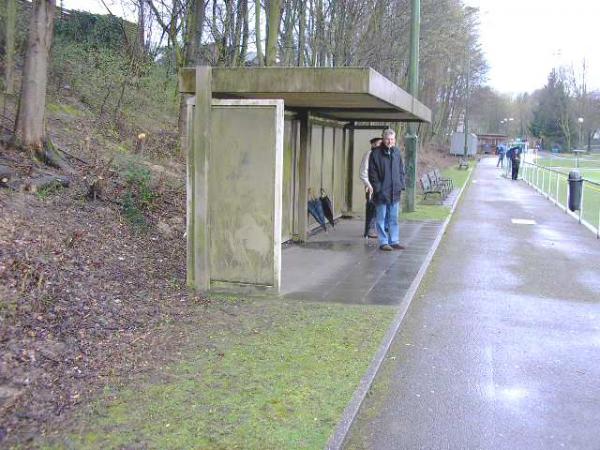
<path id="1" fill-rule="evenodd" d="M 475 170 L 475 167 L 473 167 L 469 170 L 469 175 L 467 176 L 467 180 L 465 181 L 465 184 L 463 185 L 460 192 L 456 196 L 456 201 L 454 202 L 454 204 L 452 205 L 452 208 L 450 209 L 450 214 L 448 215 L 448 217 L 444 221 L 442 227 L 440 228 L 440 231 L 439 231 L 437 237 L 435 238 L 435 241 L 433 242 L 431 249 L 429 249 L 429 253 L 427 253 L 425 260 L 421 264 L 421 267 L 419 269 L 419 272 L 417 273 L 417 276 L 411 283 L 408 291 L 406 292 L 406 294 L 404 295 L 404 298 L 402 299 L 402 302 L 398 306 L 398 312 L 396 313 L 396 316 L 394 317 L 392 324 L 388 328 L 388 331 L 387 331 L 385 337 L 383 338 L 383 341 L 379 347 L 379 350 L 375 354 L 373 361 L 371 361 L 371 365 L 369 366 L 367 372 L 360 380 L 360 383 L 359 383 L 358 387 L 356 388 L 356 391 L 354 391 L 352 400 L 350 400 L 350 403 L 348 404 L 348 406 L 346 406 L 346 409 L 342 413 L 342 417 L 341 417 L 340 421 L 338 422 L 337 426 L 335 427 L 335 430 L 334 430 L 332 436 L 329 438 L 329 441 L 327 442 L 327 445 L 325 446 L 326 450 L 341 450 L 342 449 L 344 441 L 346 440 L 346 436 L 348 435 L 348 432 L 350 431 L 350 427 L 352 426 L 354 419 L 358 415 L 358 411 L 360 410 L 360 407 L 361 407 L 365 397 L 367 396 L 369 389 L 371 389 L 371 385 L 373 384 L 373 381 L 375 380 L 375 376 L 377 375 L 377 372 L 379 372 L 379 368 L 381 367 L 381 364 L 383 363 L 383 360 L 385 359 L 385 355 L 387 354 L 390 346 L 392 345 L 392 341 L 394 340 L 394 338 L 396 337 L 396 334 L 398 333 L 398 330 L 400 329 L 400 325 L 402 324 L 402 320 L 404 319 L 404 316 L 406 315 L 406 311 L 408 311 L 408 307 L 410 306 L 413 298 L 415 297 L 415 294 L 417 293 L 417 290 L 419 289 L 419 286 L 421 285 L 421 281 L 423 281 L 423 277 L 427 273 L 427 269 L 429 268 L 429 264 L 431 264 L 433 255 L 435 254 L 438 246 L 440 245 L 440 242 L 442 241 L 442 237 L 444 236 L 444 233 L 446 232 L 446 228 L 448 227 L 448 224 L 450 223 L 450 220 L 452 219 L 452 216 L 454 215 L 454 211 L 456 210 L 456 207 L 457 207 L 458 203 L 460 202 L 463 192 L 469 185 L 469 181 L 471 180 L 471 175 L 473 174 L 474 170 Z"/>

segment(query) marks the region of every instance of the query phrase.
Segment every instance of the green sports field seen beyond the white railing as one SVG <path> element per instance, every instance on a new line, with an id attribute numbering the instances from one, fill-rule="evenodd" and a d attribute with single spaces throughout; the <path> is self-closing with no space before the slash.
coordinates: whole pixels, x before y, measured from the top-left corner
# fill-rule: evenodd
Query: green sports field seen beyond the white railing
<path id="1" fill-rule="evenodd" d="M 552 172 L 531 173 L 529 181 L 548 193 L 561 204 L 567 202 L 567 177 L 575 169 L 577 158 L 573 154 L 540 153 L 536 164 Z M 579 171 L 584 178 L 582 218 L 592 226 L 600 226 L 600 154 L 580 155 Z"/>

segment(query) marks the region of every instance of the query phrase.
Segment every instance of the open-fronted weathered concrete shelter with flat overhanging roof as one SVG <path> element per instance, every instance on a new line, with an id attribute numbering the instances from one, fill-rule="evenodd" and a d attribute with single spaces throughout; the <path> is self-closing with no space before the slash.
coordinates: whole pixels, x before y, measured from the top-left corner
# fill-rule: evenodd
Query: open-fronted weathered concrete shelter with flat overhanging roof
<path id="1" fill-rule="evenodd" d="M 199 290 L 279 291 L 281 244 L 334 215 L 363 212 L 358 178 L 382 126 L 429 122 L 423 104 L 370 68 L 183 69 L 188 94 L 187 268 Z"/>

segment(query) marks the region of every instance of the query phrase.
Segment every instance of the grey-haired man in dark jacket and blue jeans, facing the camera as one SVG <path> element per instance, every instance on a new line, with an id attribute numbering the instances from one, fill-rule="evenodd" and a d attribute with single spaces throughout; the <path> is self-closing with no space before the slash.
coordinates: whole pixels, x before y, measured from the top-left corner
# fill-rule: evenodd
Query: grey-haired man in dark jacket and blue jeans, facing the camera
<path id="1" fill-rule="evenodd" d="M 377 235 L 383 251 L 402 250 L 399 243 L 398 212 L 404 190 L 404 164 L 396 147 L 396 133 L 383 132 L 383 143 L 369 157 L 369 182 L 377 211 Z"/>

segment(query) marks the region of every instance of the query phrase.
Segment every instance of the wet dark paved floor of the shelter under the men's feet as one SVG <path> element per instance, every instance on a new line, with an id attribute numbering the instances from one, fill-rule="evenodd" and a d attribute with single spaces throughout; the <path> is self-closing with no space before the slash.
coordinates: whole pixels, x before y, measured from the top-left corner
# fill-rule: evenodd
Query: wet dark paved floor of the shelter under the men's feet
<path id="1" fill-rule="evenodd" d="M 405 250 L 382 252 L 362 237 L 364 221 L 342 219 L 282 252 L 281 296 L 348 303 L 396 305 L 417 275 L 442 226 L 439 221 L 400 221 Z"/>

